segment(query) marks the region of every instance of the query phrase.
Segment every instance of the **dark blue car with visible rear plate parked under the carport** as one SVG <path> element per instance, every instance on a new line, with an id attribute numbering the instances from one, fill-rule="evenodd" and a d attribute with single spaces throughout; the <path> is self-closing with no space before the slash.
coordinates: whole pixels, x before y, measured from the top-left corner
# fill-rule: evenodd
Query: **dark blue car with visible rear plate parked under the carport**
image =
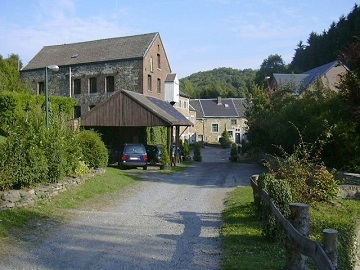
<path id="1" fill-rule="evenodd" d="M 119 150 L 118 166 L 120 168 L 142 167 L 147 170 L 147 153 L 142 144 L 124 144 Z"/>

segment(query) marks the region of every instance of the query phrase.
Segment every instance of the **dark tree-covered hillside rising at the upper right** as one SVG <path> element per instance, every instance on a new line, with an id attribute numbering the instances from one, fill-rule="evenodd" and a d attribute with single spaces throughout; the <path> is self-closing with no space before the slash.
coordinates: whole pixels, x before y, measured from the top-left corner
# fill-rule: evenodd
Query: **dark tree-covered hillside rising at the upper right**
<path id="1" fill-rule="evenodd" d="M 327 31 L 322 34 L 312 32 L 307 44 L 300 41 L 295 49 L 290 69 L 295 73 L 304 72 L 341 58 L 341 52 L 359 38 L 360 7 L 355 4 L 347 16 L 341 16 L 339 21 L 333 22 Z"/>

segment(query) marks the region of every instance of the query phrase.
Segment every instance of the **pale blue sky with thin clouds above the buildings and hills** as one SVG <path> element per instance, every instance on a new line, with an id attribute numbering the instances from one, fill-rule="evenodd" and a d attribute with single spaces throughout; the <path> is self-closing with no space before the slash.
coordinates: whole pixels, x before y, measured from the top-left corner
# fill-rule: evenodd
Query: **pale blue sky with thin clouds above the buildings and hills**
<path id="1" fill-rule="evenodd" d="M 286 64 L 356 0 L 0 0 L 0 55 L 26 65 L 44 46 L 158 32 L 178 78 Z M 334 59 L 335 60 L 335 59 Z"/>

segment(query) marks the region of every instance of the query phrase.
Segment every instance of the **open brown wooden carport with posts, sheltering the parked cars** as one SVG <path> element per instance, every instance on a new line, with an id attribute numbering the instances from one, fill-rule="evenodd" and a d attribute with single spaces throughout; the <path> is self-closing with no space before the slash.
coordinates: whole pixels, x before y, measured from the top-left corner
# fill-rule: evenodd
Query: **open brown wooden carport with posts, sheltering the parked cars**
<path id="1" fill-rule="evenodd" d="M 107 139 L 105 139 L 107 145 L 118 141 L 114 138 L 115 136 L 122 137 L 122 143 L 137 142 L 136 136 L 131 134 L 139 136 L 141 131 L 146 130 L 147 127 L 167 127 L 168 139 L 164 144 L 167 144 L 169 153 L 174 137 L 174 127 L 175 144 L 179 145 L 180 126 L 193 125 L 170 103 L 127 90 L 117 91 L 107 100 L 95 106 L 81 117 L 80 123 L 86 129 L 94 129 L 102 134 L 107 134 Z M 126 136 L 127 139 L 124 139 Z M 112 142 L 109 141 L 111 137 L 114 139 Z"/>

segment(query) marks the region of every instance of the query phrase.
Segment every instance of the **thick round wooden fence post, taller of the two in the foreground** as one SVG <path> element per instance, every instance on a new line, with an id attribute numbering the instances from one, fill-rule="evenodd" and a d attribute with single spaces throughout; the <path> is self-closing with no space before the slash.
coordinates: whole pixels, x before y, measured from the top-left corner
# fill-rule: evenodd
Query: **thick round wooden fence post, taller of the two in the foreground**
<path id="1" fill-rule="evenodd" d="M 304 203 L 290 203 L 290 222 L 294 228 L 303 236 L 308 237 L 310 231 L 309 205 Z M 301 254 L 296 243 L 290 240 L 286 243 L 287 270 L 309 269 L 309 258 Z"/>

